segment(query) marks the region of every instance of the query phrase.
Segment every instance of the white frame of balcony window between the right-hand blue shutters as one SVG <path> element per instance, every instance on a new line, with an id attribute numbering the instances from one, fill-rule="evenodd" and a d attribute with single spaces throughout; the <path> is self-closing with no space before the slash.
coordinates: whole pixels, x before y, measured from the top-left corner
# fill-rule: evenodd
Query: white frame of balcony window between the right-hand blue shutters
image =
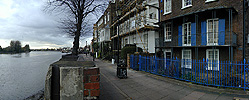
<path id="1" fill-rule="evenodd" d="M 209 31 L 209 21 L 212 21 L 212 32 Z M 217 32 L 214 32 L 215 30 L 215 26 L 214 26 L 214 21 L 217 21 L 217 26 L 216 26 L 216 31 Z M 209 40 L 209 35 L 210 33 L 213 35 L 213 39 L 212 41 Z M 214 38 L 216 35 L 216 38 Z M 218 18 L 215 18 L 215 19 L 207 19 L 207 45 L 218 45 L 218 41 L 219 41 L 219 19 Z"/>

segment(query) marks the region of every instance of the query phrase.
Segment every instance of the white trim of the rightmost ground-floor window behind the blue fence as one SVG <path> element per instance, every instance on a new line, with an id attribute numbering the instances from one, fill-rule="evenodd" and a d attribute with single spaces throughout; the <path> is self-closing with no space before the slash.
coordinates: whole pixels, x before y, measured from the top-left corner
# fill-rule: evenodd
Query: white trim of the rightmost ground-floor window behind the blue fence
<path id="1" fill-rule="evenodd" d="M 211 67 L 209 67 L 209 66 L 210 66 L 209 64 L 211 63 L 210 60 L 209 60 L 210 58 L 208 58 L 208 55 L 209 55 L 208 52 L 209 52 L 209 51 L 214 51 L 214 53 L 217 51 L 218 66 L 217 66 L 217 69 L 214 69 L 214 70 L 219 71 L 219 59 L 220 59 L 220 57 L 219 57 L 219 49 L 207 49 L 207 50 L 206 50 L 206 60 L 208 59 L 208 62 L 207 62 L 207 63 L 208 63 L 208 66 L 207 66 L 206 70 L 213 70 L 212 65 L 211 65 Z M 213 56 L 215 56 L 215 55 L 213 54 Z M 216 59 L 215 59 L 215 60 L 216 60 Z"/>

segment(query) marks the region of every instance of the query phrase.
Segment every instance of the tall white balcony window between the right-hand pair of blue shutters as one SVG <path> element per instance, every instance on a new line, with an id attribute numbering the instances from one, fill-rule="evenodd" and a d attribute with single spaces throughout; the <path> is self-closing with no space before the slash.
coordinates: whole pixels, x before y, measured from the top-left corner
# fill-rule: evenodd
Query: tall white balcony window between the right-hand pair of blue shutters
<path id="1" fill-rule="evenodd" d="M 207 20 L 207 45 L 218 45 L 218 19 Z"/>

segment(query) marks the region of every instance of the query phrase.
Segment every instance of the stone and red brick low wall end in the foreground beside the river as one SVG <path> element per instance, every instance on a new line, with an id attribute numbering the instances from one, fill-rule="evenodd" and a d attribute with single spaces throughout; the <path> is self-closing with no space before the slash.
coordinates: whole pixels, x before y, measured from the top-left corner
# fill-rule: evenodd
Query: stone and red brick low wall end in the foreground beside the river
<path id="1" fill-rule="evenodd" d="M 45 100 L 97 99 L 99 68 L 92 61 L 59 60 L 50 65 L 45 81 Z"/>

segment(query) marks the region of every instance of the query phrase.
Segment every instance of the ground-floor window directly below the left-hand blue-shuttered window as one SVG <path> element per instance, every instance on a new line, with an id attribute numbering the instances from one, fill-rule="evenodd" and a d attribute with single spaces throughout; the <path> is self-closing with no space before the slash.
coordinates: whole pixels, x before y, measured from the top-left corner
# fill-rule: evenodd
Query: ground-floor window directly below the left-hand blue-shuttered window
<path id="1" fill-rule="evenodd" d="M 191 69 L 192 60 L 191 60 L 191 50 L 186 49 L 182 50 L 182 67 Z"/>

